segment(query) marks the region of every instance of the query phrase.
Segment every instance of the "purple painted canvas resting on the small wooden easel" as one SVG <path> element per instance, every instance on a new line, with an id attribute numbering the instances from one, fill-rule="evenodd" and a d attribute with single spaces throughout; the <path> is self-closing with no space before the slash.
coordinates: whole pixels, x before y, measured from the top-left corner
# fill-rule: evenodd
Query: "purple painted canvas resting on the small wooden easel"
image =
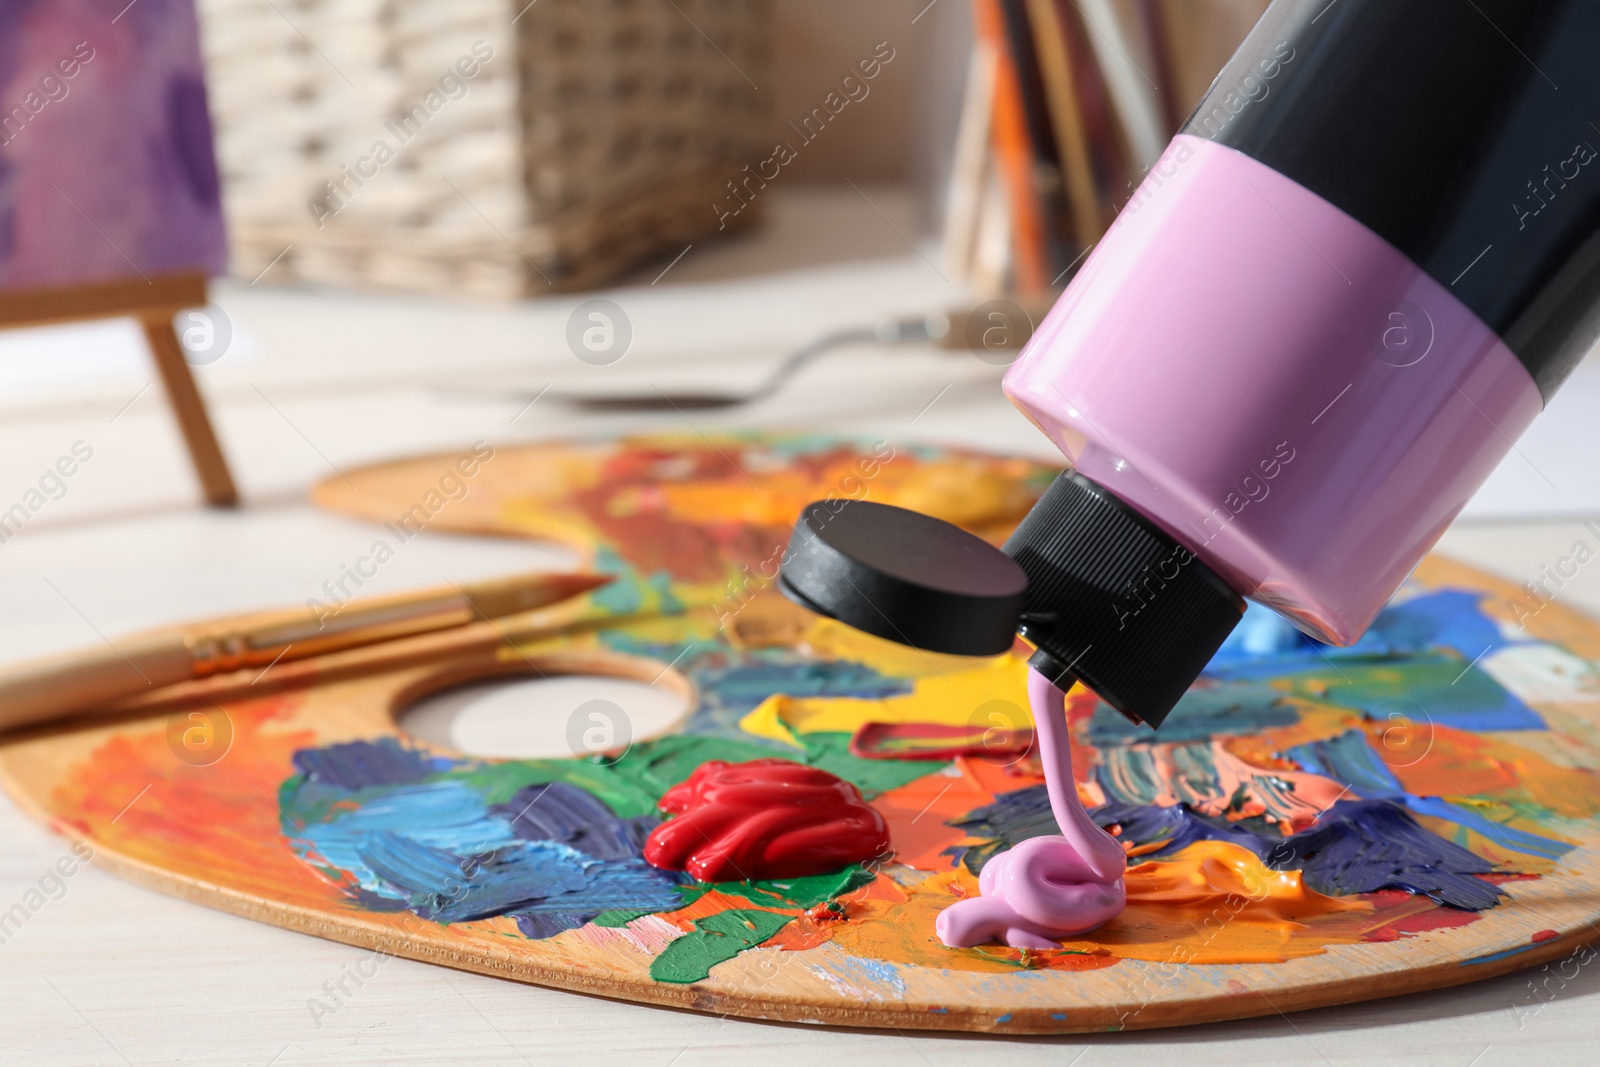
<path id="1" fill-rule="evenodd" d="M 194 0 L 0 0 L 0 288 L 222 274 Z"/>

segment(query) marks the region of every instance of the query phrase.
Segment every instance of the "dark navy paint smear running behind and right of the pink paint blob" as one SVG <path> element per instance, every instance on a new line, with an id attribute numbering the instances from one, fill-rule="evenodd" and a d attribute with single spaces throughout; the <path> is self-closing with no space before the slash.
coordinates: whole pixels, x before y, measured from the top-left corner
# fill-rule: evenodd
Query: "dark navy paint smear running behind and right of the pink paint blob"
<path id="1" fill-rule="evenodd" d="M 1090 816 L 1102 827 L 1120 825 L 1123 841 L 1158 843 L 1162 848 L 1150 853 L 1150 859 L 1170 857 L 1195 841 L 1229 841 L 1250 849 L 1274 870 L 1302 872 L 1307 886 L 1328 896 L 1405 889 L 1474 912 L 1494 907 L 1502 896 L 1493 885 L 1472 877 L 1490 873 L 1493 864 L 1429 833 L 1390 800 L 1341 800 L 1312 827 L 1286 838 L 1258 832 L 1245 822 L 1202 816 L 1187 805 L 1107 803 Z M 949 825 L 989 838 L 946 849 L 973 873 L 1018 841 L 1058 833 L 1043 785 L 1002 793 L 966 817 L 950 819 Z"/>

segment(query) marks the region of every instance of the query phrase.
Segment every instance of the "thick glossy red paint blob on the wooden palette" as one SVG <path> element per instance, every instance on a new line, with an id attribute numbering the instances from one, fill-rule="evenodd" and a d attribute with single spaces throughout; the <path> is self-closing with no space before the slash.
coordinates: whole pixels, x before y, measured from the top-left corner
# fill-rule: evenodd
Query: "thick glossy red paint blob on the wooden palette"
<path id="1" fill-rule="evenodd" d="M 888 824 L 850 782 L 790 760 L 702 763 L 669 789 L 651 867 L 698 881 L 800 878 L 886 856 Z"/>

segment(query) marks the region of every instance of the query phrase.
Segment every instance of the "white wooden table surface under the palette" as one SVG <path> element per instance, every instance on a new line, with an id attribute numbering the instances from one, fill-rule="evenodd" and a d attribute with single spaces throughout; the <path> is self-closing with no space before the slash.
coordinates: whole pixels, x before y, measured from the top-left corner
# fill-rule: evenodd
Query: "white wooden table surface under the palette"
<path id="1" fill-rule="evenodd" d="M 222 283 L 234 346 L 198 368 L 245 498 L 208 512 L 131 325 L 0 336 L 0 510 L 78 442 L 93 458 L 0 544 L 0 659 L 91 645 L 101 633 L 317 595 L 371 542 L 362 523 L 320 514 L 306 488 L 341 467 L 474 440 L 517 443 L 626 430 L 811 427 L 1050 456 L 971 355 L 854 349 L 749 410 L 592 418 L 549 402 L 546 384 L 754 382 L 816 331 L 958 302 L 920 253 L 894 190 L 774 195 L 766 234 L 691 250 L 659 283 L 646 272 L 605 293 L 634 323 L 613 366 L 565 346 L 584 298 L 518 307 L 390 299 Z M 934 264 L 938 261 L 934 259 Z M 661 264 L 664 266 L 664 264 Z M 659 266 L 658 266 L 659 270 Z M 494 395 L 506 387 L 525 392 Z M 483 394 L 480 390 L 490 390 Z M 1507 464 L 1520 462 L 1517 458 Z M 1547 467 L 1547 464 L 1541 464 Z M 1581 470 L 1581 466 L 1576 469 Z M 1573 466 L 1560 472 L 1573 478 Z M 1546 470 L 1549 474 L 1549 470 Z M 1536 470 L 1506 477 L 1542 477 Z M 1512 485 L 1512 488 L 1515 488 Z M 1594 486 L 1582 488 L 1592 494 Z M 1504 493 L 1501 494 L 1504 496 Z M 1584 515 L 1458 522 L 1443 550 L 1517 582 L 1538 579 L 1584 537 Z M 1592 534 L 1587 534 L 1590 539 Z M 370 584 L 560 566 L 530 544 L 424 534 Z M 1563 601 L 1600 614 L 1600 566 Z M 0 913 L 21 902 L 64 843 L 0 798 Z M 1000 1040 L 770 1025 L 640 1008 L 390 960 L 331 1016 L 326 998 L 366 953 L 210 912 L 120 881 L 93 864 L 0 933 L 5 1064 L 669 1064 L 906 1062 L 1109 1064 L 1589 1064 L 1600 1038 L 1600 963 L 1246 1022 Z M 26 909 L 24 909 L 26 910 Z"/>

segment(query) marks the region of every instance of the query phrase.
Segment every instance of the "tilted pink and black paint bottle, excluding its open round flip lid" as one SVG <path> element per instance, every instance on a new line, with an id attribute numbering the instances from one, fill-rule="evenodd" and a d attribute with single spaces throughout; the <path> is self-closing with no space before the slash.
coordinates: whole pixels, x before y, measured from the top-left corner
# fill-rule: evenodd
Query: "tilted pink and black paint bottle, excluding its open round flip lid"
<path id="1" fill-rule="evenodd" d="M 1074 467 L 1006 545 L 1046 677 L 1158 725 L 1240 597 L 1362 635 L 1600 334 L 1597 48 L 1269 8 L 1005 378 Z"/>

